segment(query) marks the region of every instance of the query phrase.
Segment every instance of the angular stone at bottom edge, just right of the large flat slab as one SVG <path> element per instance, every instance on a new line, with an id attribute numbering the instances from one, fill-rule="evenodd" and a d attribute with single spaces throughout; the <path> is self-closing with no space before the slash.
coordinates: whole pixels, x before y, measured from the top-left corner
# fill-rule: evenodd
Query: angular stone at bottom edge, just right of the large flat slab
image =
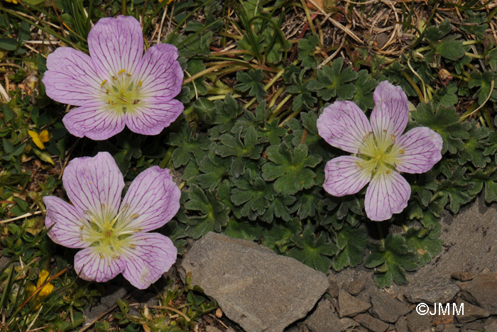
<path id="1" fill-rule="evenodd" d="M 329 301 L 322 299 L 315 311 L 305 320 L 305 324 L 312 332 L 342 332 L 349 331 L 355 323 L 354 319 L 340 319 Z"/>

